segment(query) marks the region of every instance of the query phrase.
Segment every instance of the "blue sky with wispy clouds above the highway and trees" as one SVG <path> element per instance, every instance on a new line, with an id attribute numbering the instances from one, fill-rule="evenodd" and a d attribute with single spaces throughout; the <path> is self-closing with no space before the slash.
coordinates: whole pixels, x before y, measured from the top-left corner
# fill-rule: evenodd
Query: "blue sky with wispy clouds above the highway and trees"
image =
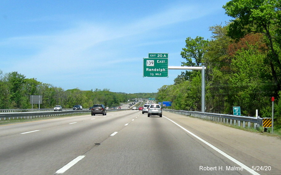
<path id="1" fill-rule="evenodd" d="M 181 66 L 187 37 L 210 39 L 210 26 L 230 20 L 227 0 L 1 0 L 0 70 L 64 90 L 152 93 L 173 84 L 143 77 L 148 53 L 169 53 Z"/>

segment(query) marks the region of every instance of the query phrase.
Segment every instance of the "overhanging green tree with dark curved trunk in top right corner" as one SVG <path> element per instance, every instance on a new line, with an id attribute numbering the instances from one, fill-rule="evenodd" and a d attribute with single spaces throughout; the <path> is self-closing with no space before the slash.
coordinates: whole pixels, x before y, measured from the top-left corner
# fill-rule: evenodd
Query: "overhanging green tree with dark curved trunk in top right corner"
<path id="1" fill-rule="evenodd" d="M 279 0 L 232 0 L 223 6 L 234 19 L 228 26 L 228 35 L 239 40 L 249 34 L 260 33 L 267 39 L 267 58 L 276 84 L 275 93 L 281 90 L 281 4 Z"/>

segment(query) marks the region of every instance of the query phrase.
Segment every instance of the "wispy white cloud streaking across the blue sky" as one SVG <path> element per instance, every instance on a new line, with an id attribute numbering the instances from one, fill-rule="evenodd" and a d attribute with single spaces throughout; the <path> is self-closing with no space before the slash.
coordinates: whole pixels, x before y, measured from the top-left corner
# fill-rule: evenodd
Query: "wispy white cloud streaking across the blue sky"
<path id="1" fill-rule="evenodd" d="M 155 30 L 202 18 L 210 13 L 207 6 L 177 4 L 165 9 L 144 14 L 134 22 L 76 21 L 72 28 L 53 32 L 49 35 L 12 37 L 0 41 L 0 46 L 33 48 L 32 53 L 23 55 L 19 62 L 9 65 L 10 70 L 38 76 L 71 77 L 76 73 L 83 76 L 91 72 L 112 72 L 122 69 L 116 65 L 139 61 L 135 56 L 125 54 L 126 47 L 143 47 L 177 41 L 175 39 L 149 41 Z M 33 22 L 36 22 L 35 19 Z M 50 20 L 50 19 L 48 19 Z M 125 42 L 126 41 L 126 42 Z M 132 46 L 131 46 L 132 47 Z M 140 57 L 142 58 L 142 57 Z M 114 68 L 114 70 L 112 70 Z M 131 67 L 129 67 L 131 68 Z M 57 85 L 59 86 L 59 85 Z"/>

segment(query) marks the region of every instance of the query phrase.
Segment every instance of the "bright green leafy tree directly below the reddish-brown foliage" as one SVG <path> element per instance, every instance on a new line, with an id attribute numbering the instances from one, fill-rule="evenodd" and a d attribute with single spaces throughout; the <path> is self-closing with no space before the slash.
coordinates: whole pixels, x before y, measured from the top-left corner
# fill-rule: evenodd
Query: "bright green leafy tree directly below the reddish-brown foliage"
<path id="1" fill-rule="evenodd" d="M 265 54 L 259 52 L 258 46 L 248 46 L 248 50 L 238 50 L 232 60 L 233 73 L 230 86 L 234 106 L 241 106 L 243 114 L 254 116 L 255 109 L 262 109 L 268 104 L 268 94 L 272 93 L 269 70 L 263 63 Z"/>

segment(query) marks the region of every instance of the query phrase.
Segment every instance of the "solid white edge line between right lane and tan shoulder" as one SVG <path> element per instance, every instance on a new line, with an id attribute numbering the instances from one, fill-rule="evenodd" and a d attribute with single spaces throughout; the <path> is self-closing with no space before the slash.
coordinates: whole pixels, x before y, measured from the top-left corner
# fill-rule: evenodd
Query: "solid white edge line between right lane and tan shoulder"
<path id="1" fill-rule="evenodd" d="M 165 116 L 163 116 L 165 117 Z M 228 158 L 230 161 L 233 161 L 234 163 L 236 163 L 237 165 L 241 166 L 243 169 L 247 170 L 249 173 L 253 174 L 253 175 L 260 175 L 259 173 L 255 172 L 253 169 L 247 167 L 246 165 L 244 165 L 243 163 L 241 163 L 240 161 L 234 159 L 233 157 L 229 156 L 228 154 L 226 154 L 225 152 L 223 152 L 222 150 L 218 149 L 217 147 L 215 147 L 214 145 L 208 143 L 207 141 L 203 140 L 202 138 L 198 137 L 197 135 L 193 134 L 192 132 L 190 132 L 189 130 L 185 129 L 184 127 L 182 127 L 181 125 L 177 124 L 176 122 L 174 122 L 173 120 L 165 117 L 166 119 L 168 119 L 169 121 L 172 121 L 174 124 L 176 124 L 178 127 L 180 127 L 181 129 L 185 130 L 186 132 L 188 132 L 189 134 L 191 134 L 193 137 L 197 138 L 198 140 L 202 141 L 203 143 L 205 143 L 206 145 L 210 146 L 211 148 L 213 148 L 215 151 L 217 151 L 218 153 L 222 154 L 224 157 Z"/>

